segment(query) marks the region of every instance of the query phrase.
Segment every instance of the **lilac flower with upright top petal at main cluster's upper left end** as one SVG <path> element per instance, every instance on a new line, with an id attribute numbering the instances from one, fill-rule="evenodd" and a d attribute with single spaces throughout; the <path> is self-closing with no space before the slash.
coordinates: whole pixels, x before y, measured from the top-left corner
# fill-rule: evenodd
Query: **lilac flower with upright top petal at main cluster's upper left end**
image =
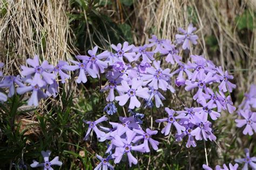
<path id="1" fill-rule="evenodd" d="M 76 58 L 85 60 L 87 63 L 86 68 L 92 69 L 99 75 L 99 73 L 104 73 L 104 69 L 107 67 L 107 62 L 102 61 L 101 59 L 107 58 L 109 56 L 109 51 L 104 51 L 99 55 L 96 55 L 97 51 L 98 46 L 95 46 L 92 50 L 88 50 L 90 56 L 76 56 Z"/>

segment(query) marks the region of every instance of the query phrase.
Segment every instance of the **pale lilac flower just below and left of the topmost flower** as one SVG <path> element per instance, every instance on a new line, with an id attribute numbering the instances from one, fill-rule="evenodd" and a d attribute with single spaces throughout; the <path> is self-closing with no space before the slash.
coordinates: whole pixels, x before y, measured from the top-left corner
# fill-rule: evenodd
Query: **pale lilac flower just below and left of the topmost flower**
<path id="1" fill-rule="evenodd" d="M 173 44 L 166 47 L 165 49 L 160 49 L 160 53 L 167 55 L 165 58 L 167 63 L 175 64 L 175 62 L 179 63 L 181 60 L 181 57 L 178 55 L 178 50 L 175 49 Z"/>

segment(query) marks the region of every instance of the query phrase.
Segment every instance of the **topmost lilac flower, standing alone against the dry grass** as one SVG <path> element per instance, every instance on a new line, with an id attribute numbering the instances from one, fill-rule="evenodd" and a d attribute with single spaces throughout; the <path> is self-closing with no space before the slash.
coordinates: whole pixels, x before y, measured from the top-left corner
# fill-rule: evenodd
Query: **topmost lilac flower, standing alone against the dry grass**
<path id="1" fill-rule="evenodd" d="M 178 31 L 183 33 L 183 35 L 177 34 L 175 35 L 177 44 L 183 44 L 182 48 L 183 50 L 190 49 L 190 42 L 194 45 L 197 44 L 198 36 L 194 35 L 194 31 L 196 31 L 197 28 L 193 27 L 193 24 L 189 24 L 187 31 L 183 30 L 182 28 L 178 28 Z"/>

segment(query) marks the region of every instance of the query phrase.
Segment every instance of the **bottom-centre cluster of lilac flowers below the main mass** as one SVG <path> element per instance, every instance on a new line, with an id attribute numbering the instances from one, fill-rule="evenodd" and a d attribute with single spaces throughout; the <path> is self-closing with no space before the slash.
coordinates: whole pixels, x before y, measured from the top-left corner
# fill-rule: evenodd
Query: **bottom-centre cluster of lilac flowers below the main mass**
<path id="1" fill-rule="evenodd" d="M 88 139 L 91 130 L 93 130 L 100 142 L 108 141 L 108 147 L 105 153 L 109 153 L 109 156 L 104 159 L 105 162 L 103 161 L 97 166 L 98 169 L 101 166 L 107 166 L 111 169 L 112 166 L 109 164 L 109 160 L 114 159 L 114 163 L 118 164 L 124 155 L 127 156 L 129 165 L 132 166 L 132 164 L 137 164 L 138 162 L 132 153 L 150 152 L 149 144 L 154 150 L 158 149 L 159 142 L 152 139 L 152 135 L 157 134 L 157 131 L 152 131 L 149 128 L 143 130 L 134 115 L 131 117 L 119 117 L 120 123 L 109 122 L 111 125 L 110 128 L 98 125 L 107 120 L 105 115 L 96 121 L 84 121 L 86 124 L 89 124 L 89 129 L 84 140 Z M 113 150 L 114 152 L 112 154 Z M 103 160 L 102 157 L 97 157 Z"/>

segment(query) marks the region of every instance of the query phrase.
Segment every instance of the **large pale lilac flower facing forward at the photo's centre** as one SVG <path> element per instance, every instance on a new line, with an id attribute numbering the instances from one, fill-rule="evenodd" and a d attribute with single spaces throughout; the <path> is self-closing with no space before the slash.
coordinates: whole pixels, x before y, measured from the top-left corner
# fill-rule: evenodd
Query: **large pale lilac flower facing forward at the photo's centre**
<path id="1" fill-rule="evenodd" d="M 149 98 L 149 89 L 147 89 L 147 87 L 142 87 L 143 81 L 133 78 L 131 88 L 125 80 L 122 80 L 121 84 L 122 86 L 117 86 L 117 90 L 120 92 L 125 92 L 126 94 L 116 97 L 116 100 L 119 101 L 120 106 L 124 106 L 130 99 L 129 108 L 133 109 L 134 107 L 140 107 L 141 105 L 136 96 L 144 99 Z"/>

